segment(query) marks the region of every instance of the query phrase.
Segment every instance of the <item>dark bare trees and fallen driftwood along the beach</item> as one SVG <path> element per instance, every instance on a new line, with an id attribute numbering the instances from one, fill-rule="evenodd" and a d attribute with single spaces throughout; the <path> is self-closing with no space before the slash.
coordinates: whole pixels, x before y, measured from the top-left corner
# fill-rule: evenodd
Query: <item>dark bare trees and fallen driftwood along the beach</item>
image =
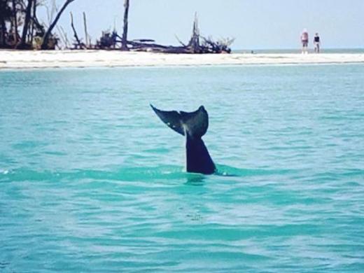
<path id="1" fill-rule="evenodd" d="M 0 0 L 0 48 L 14 49 L 55 49 L 59 38 L 55 34 L 55 27 L 67 6 L 75 0 L 64 0 L 61 8 L 55 7 L 55 0 L 52 0 L 53 11 L 55 16 L 49 18 L 49 25 L 39 22 L 37 18 L 37 9 L 45 6 L 47 10 L 50 7 L 44 0 Z M 87 39 L 86 15 L 83 13 L 85 24 L 85 43 L 79 38 L 76 28 L 73 25 L 73 15 L 71 13 L 71 27 L 75 42 L 73 49 L 120 49 L 134 51 L 150 52 L 169 52 L 169 53 L 221 53 L 230 52 L 230 45 L 234 41 L 231 38 L 214 41 L 211 37 L 205 38 L 200 35 L 200 29 L 197 25 L 197 15 L 193 23 L 193 34 L 188 43 L 181 43 L 179 46 L 160 45 L 152 39 L 128 40 L 128 15 L 130 0 L 120 0 L 124 3 L 123 34 L 119 36 L 114 29 L 112 33 L 103 31 L 102 36 L 96 44 L 92 45 Z M 62 28 L 61 28 L 62 29 Z M 177 38 L 178 39 L 178 38 Z M 68 43 L 67 39 L 66 43 Z M 72 48 L 71 48 L 72 49 Z"/>

